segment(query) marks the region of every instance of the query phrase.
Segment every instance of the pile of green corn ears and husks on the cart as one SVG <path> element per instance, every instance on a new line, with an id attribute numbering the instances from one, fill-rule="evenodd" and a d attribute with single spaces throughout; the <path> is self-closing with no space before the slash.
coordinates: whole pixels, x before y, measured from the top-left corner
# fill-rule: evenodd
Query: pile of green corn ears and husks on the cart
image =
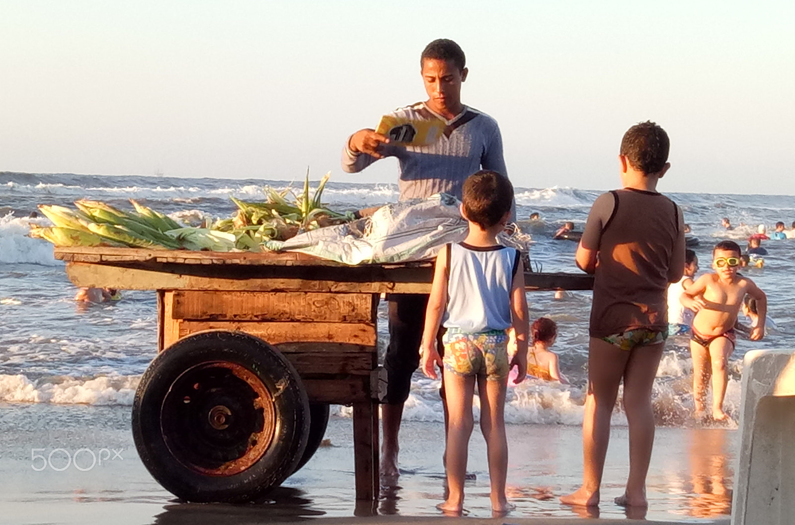
<path id="1" fill-rule="evenodd" d="M 156 210 L 130 199 L 135 211 L 123 211 L 99 201 L 80 200 L 76 209 L 41 205 L 39 209 L 53 226 L 31 225 L 30 236 L 40 237 L 56 246 L 126 246 L 132 248 L 190 249 L 228 252 L 262 251 L 266 241 L 285 241 L 304 231 L 349 222 L 353 214 L 339 214 L 320 203 L 327 173 L 320 180 L 312 198 L 309 174 L 304 191 L 281 193 L 266 188 L 266 202 L 247 203 L 232 198 L 238 212 L 232 218 L 219 219 L 210 227 L 180 225 Z M 287 195 L 293 195 L 293 202 Z"/>

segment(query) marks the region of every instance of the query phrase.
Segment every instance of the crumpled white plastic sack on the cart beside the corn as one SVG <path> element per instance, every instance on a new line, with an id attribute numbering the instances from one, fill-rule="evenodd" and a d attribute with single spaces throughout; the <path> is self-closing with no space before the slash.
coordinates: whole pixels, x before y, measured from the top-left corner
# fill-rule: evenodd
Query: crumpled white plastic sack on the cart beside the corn
<path id="1" fill-rule="evenodd" d="M 310 253 L 345 264 L 397 263 L 436 257 L 448 242 L 467 237 L 459 201 L 444 193 L 423 201 L 387 204 L 369 218 L 329 226 L 287 241 L 268 241 L 273 251 Z"/>

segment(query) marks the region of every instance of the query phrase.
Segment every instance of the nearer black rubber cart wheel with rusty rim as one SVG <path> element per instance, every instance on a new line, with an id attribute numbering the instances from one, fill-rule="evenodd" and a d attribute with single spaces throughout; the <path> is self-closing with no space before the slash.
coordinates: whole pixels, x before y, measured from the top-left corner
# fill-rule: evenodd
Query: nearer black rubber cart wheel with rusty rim
<path id="1" fill-rule="evenodd" d="M 144 373 L 133 438 L 149 473 L 195 502 L 256 500 L 292 474 L 306 449 L 301 378 L 273 346 L 207 331 L 169 346 Z"/>

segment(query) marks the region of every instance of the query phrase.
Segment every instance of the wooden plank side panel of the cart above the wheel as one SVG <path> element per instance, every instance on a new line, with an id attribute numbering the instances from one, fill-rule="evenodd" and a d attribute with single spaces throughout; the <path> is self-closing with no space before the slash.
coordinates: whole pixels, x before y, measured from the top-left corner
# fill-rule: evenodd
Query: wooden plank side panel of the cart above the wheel
<path id="1" fill-rule="evenodd" d="M 165 290 L 158 351 L 204 330 L 240 331 L 275 345 L 295 367 L 310 402 L 370 400 L 378 367 L 378 295 Z"/>

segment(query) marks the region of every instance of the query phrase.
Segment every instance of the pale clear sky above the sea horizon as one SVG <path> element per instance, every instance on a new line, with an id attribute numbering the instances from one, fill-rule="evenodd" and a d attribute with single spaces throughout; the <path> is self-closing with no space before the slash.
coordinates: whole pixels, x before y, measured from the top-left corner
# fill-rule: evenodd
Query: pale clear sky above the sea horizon
<path id="1" fill-rule="evenodd" d="M 793 21 L 791 0 L 0 0 L 0 171 L 395 182 L 341 149 L 425 100 L 420 53 L 452 38 L 518 186 L 617 186 L 650 119 L 661 191 L 795 195 Z"/>

